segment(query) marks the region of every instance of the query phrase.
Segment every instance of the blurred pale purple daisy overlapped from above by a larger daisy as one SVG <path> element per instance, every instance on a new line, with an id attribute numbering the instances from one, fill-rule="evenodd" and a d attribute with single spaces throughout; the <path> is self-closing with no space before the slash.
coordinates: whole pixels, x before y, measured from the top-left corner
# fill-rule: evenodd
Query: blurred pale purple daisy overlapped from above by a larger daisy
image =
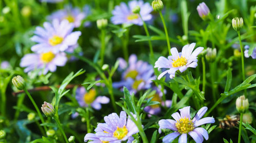
<path id="1" fill-rule="evenodd" d="M 44 69 L 43 74 L 48 71 L 55 72 L 57 66 L 65 66 L 68 58 L 64 52 L 53 53 L 51 51 L 45 53 L 29 53 L 20 61 L 20 67 L 26 67 L 24 72 L 34 69 Z M 41 74 L 41 72 L 39 72 Z"/>

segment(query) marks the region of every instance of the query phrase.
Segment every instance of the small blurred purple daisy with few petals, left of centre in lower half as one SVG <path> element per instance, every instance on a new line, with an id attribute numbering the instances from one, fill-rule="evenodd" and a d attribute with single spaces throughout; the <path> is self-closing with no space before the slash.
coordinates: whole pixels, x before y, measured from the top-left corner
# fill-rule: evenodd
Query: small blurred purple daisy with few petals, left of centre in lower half
<path id="1" fill-rule="evenodd" d="M 110 99 L 105 96 L 96 97 L 97 93 L 95 89 L 91 89 L 88 92 L 84 87 L 79 87 L 76 90 L 76 100 L 82 107 L 88 107 L 91 105 L 94 109 L 101 109 L 101 104 L 107 104 Z"/>

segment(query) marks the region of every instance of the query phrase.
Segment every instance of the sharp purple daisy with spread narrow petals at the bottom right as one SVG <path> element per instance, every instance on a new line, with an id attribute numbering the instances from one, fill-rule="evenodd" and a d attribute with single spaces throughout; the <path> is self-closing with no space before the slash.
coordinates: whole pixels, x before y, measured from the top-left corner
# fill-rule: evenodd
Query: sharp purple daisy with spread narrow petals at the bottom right
<path id="1" fill-rule="evenodd" d="M 179 143 L 186 143 L 187 134 L 189 134 L 197 143 L 203 142 L 204 138 L 208 140 L 208 132 L 204 128 L 198 127 L 203 124 L 215 123 L 215 120 L 212 117 L 206 117 L 201 119 L 207 111 L 207 107 L 202 107 L 197 112 L 197 115 L 194 117 L 193 120 L 190 119 L 190 106 L 181 108 L 179 110 L 180 114 L 178 112 L 172 114 L 172 117 L 175 120 L 162 119 L 158 122 L 159 133 L 161 133 L 161 129 L 171 129 L 175 131 L 166 135 L 163 138 L 163 142 L 172 142 L 176 137 L 180 135 Z"/>

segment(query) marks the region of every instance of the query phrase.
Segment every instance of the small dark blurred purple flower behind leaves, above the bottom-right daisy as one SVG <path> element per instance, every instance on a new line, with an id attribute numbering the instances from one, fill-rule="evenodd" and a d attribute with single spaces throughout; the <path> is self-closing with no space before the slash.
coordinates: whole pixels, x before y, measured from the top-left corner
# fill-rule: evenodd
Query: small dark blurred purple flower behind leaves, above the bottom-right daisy
<path id="1" fill-rule="evenodd" d="M 153 98 L 151 99 L 151 101 L 158 101 L 158 102 L 161 103 L 162 106 L 165 105 L 166 107 L 172 106 L 172 100 L 166 100 L 165 102 L 162 100 L 163 93 L 161 92 L 160 88 L 161 88 L 161 87 L 158 87 L 158 88 L 157 88 L 157 87 L 154 87 L 154 88 L 153 88 L 153 90 L 155 90 L 156 93 L 155 93 L 153 96 L 151 96 L 151 97 L 153 97 Z M 165 93 L 166 93 L 166 90 L 164 90 L 164 94 L 165 94 Z M 149 97 L 149 98 L 151 98 L 151 97 Z M 157 105 L 151 105 L 151 106 L 146 106 L 146 107 L 144 108 L 144 111 L 150 113 L 150 114 L 148 115 L 148 117 L 151 117 L 151 115 L 158 115 L 158 113 L 161 112 L 161 107 L 160 107 L 159 104 L 157 104 Z"/>

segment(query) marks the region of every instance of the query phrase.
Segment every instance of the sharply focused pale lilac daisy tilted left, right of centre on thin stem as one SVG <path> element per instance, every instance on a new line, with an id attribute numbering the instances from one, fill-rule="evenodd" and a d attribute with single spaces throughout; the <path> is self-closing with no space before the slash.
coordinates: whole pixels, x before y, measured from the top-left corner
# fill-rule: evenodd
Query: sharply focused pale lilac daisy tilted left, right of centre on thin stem
<path id="1" fill-rule="evenodd" d="M 168 59 L 160 56 L 155 63 L 155 68 L 158 68 L 158 70 L 161 68 L 166 68 L 168 70 L 162 72 L 157 79 L 160 79 L 166 73 L 170 74 L 170 78 L 174 78 L 177 70 L 184 72 L 189 67 L 196 68 L 198 61 L 197 55 L 202 52 L 204 48 L 198 47 L 193 51 L 195 46 L 196 43 L 185 45 L 180 53 L 178 52 L 177 48 L 172 48 L 170 49 L 170 53 L 172 53 L 172 55 L 169 55 Z"/>

